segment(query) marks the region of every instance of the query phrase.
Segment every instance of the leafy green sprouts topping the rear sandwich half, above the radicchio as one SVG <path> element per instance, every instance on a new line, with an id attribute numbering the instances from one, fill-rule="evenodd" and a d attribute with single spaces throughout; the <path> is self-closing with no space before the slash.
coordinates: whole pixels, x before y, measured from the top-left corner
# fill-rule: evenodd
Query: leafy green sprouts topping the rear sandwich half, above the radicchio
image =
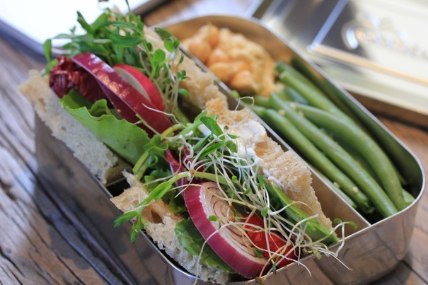
<path id="1" fill-rule="evenodd" d="M 109 8 L 93 23 L 88 23 L 83 15 L 77 12 L 77 22 L 85 31 L 82 35 L 76 34 L 76 28 L 71 28 L 69 34 L 62 33 L 45 42 L 44 51 L 48 62 L 52 61 L 52 40 L 60 39 L 66 41 L 62 48 L 69 56 L 91 52 L 110 66 L 118 63 L 132 65 L 146 74 L 158 91 L 161 91 L 166 107 L 164 111 L 175 115 L 178 122 L 187 122 L 186 116 L 178 107 L 178 97 L 187 94 L 179 85 L 187 76 L 184 70 L 176 68 L 184 58 L 179 52 L 180 41 L 176 37 L 165 29 L 155 28 L 163 40 L 163 49 L 157 48 L 152 42 L 153 37 L 146 35 L 148 28 L 140 16 L 133 13 L 123 14 Z M 176 71 L 171 72 L 173 69 Z"/>

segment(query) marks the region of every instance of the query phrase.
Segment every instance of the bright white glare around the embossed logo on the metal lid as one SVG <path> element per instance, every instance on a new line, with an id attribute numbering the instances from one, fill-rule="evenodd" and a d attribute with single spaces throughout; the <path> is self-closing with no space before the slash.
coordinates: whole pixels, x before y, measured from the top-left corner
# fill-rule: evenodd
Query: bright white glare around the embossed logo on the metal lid
<path id="1" fill-rule="evenodd" d="M 409 8 L 408 5 L 400 7 L 400 2 L 381 0 L 348 1 L 344 8 L 356 13 L 350 18 L 340 13 L 334 25 L 340 28 L 341 33 L 335 33 L 336 28 L 332 27 L 320 42 L 312 45 L 324 45 L 349 55 L 357 53 L 361 59 L 371 62 L 369 68 L 428 86 L 428 75 L 423 72 L 428 70 L 428 38 L 421 37 L 418 31 L 424 25 L 428 28 L 423 11 L 420 16 L 410 14 L 403 10 Z M 412 21 L 409 21 L 410 17 Z M 345 48 L 335 45 L 335 38 L 339 35 Z M 362 53 L 358 52 L 359 49 Z M 313 52 L 317 52 L 316 47 Z"/>

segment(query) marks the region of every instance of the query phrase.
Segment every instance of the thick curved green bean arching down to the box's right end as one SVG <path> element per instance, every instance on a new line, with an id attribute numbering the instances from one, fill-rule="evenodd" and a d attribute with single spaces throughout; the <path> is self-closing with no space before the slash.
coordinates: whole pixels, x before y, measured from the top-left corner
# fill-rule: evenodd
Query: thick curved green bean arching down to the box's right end
<path id="1" fill-rule="evenodd" d="M 399 210 L 404 209 L 403 191 L 395 168 L 380 146 L 362 129 L 354 124 L 347 124 L 340 118 L 323 110 L 306 105 L 298 105 L 298 110 L 318 127 L 328 130 L 334 136 L 340 137 L 352 145 L 371 165 L 380 180 L 383 190 Z"/>

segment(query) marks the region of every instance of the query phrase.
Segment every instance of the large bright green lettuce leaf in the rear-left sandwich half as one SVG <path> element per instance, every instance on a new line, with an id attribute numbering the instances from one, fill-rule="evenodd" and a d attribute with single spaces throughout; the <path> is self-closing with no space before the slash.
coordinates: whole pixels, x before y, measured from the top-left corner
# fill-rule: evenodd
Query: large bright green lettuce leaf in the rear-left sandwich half
<path id="1" fill-rule="evenodd" d="M 71 91 L 59 102 L 98 140 L 132 165 L 137 163 L 138 158 L 144 153 L 144 146 L 150 141 L 147 133 L 136 124 L 118 119 L 108 108 L 107 100 L 102 99 L 91 103 L 78 92 Z"/>

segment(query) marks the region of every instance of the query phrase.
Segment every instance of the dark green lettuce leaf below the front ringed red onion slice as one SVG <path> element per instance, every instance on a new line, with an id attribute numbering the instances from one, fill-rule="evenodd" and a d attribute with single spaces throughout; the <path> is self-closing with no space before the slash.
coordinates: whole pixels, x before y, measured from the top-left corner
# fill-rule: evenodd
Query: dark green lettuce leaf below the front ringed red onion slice
<path id="1" fill-rule="evenodd" d="M 191 255 L 198 256 L 202 250 L 202 245 L 205 240 L 197 230 L 195 224 L 191 219 L 183 219 L 175 225 L 175 234 L 177 235 L 180 245 L 187 250 Z M 206 244 L 202 251 L 201 260 L 205 264 L 212 267 L 218 267 L 224 272 L 236 273 L 226 262 L 224 262 L 219 255 Z"/>

